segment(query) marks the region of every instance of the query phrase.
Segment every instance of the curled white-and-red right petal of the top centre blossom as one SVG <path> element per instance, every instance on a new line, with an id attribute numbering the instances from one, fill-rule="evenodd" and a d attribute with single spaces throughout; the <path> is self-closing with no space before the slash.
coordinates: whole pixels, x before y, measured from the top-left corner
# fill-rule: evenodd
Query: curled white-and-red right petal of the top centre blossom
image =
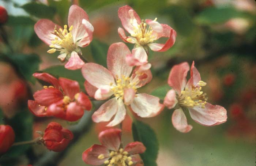
<path id="1" fill-rule="evenodd" d="M 174 45 L 176 40 L 176 35 L 177 35 L 176 31 L 172 29 L 170 31 L 169 39 L 165 42 L 165 44 L 151 43 L 151 44 L 148 44 L 148 46 L 153 51 L 165 52 Z"/>

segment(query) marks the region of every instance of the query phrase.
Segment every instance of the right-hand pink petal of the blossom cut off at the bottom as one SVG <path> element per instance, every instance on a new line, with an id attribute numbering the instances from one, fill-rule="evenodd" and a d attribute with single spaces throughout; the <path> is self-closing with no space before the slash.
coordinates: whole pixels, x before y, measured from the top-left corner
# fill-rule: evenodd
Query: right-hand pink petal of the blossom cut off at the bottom
<path id="1" fill-rule="evenodd" d="M 146 151 L 146 147 L 141 142 L 131 142 L 125 146 L 124 151 L 127 151 L 129 154 L 141 154 Z"/>

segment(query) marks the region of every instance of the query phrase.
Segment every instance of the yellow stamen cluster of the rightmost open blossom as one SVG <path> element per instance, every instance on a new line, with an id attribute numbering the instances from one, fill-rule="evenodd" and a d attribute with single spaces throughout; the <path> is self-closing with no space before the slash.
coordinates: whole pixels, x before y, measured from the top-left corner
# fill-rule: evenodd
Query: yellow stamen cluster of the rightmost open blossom
<path id="1" fill-rule="evenodd" d="M 205 108 L 205 104 L 207 101 L 206 93 L 203 93 L 202 86 L 206 86 L 206 83 L 203 81 L 199 81 L 197 83 L 200 87 L 192 86 L 191 88 L 185 88 L 185 90 L 181 91 L 180 97 L 178 97 L 178 101 L 181 106 L 184 107 L 195 107 L 200 106 Z"/>

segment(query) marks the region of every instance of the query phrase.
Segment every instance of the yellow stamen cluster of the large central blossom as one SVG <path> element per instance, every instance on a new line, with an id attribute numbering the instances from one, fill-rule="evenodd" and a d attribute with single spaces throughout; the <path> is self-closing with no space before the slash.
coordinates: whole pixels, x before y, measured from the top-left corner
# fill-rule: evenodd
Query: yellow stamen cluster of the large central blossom
<path id="1" fill-rule="evenodd" d="M 121 99 L 124 99 L 124 90 L 126 88 L 133 88 L 135 93 L 137 91 L 137 88 L 135 87 L 136 83 L 130 83 L 131 78 L 125 77 L 124 75 L 122 78 L 116 79 L 116 85 L 110 84 L 111 90 L 113 91 L 115 97 L 121 97 Z"/>

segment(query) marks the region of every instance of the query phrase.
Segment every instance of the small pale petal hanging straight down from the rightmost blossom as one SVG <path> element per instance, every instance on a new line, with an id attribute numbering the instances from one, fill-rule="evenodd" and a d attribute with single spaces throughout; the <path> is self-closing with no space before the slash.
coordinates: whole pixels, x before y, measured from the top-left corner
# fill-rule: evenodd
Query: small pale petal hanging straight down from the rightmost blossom
<path id="1" fill-rule="evenodd" d="M 187 118 L 181 108 L 173 112 L 172 123 L 174 128 L 182 133 L 187 133 L 193 128 L 191 125 L 188 125 Z"/>

